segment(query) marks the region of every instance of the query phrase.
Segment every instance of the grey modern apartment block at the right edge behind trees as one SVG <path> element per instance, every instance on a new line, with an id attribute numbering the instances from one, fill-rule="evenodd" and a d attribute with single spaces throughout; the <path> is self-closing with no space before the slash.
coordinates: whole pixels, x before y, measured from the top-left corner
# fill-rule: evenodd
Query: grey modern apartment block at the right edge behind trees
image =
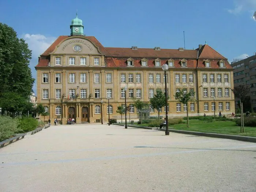
<path id="1" fill-rule="evenodd" d="M 236 61 L 236 60 L 234 60 Z M 253 110 L 256 110 L 256 54 L 243 60 L 231 62 L 234 71 L 234 87 L 247 85 L 250 88 L 250 102 Z M 236 107 L 238 107 L 236 98 Z"/>

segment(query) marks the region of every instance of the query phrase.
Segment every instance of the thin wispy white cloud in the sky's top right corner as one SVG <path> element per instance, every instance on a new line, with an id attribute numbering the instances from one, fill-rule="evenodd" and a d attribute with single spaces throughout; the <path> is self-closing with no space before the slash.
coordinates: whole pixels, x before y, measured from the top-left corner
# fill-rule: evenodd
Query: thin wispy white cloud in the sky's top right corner
<path id="1" fill-rule="evenodd" d="M 254 12 L 256 10 L 256 0 L 233 0 L 235 7 L 227 10 L 231 14 L 240 14 L 244 11 Z"/>

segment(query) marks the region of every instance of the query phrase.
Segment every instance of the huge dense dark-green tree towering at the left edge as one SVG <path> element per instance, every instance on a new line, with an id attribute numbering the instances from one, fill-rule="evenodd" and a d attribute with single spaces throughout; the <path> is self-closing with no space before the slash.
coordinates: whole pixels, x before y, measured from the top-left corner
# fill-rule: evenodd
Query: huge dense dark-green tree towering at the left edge
<path id="1" fill-rule="evenodd" d="M 13 115 L 29 101 L 34 79 L 29 68 L 31 50 L 11 27 L 0 23 L 0 105 Z M 12 98 L 13 97 L 13 98 Z M 6 102 L 7 99 L 11 99 Z"/>

